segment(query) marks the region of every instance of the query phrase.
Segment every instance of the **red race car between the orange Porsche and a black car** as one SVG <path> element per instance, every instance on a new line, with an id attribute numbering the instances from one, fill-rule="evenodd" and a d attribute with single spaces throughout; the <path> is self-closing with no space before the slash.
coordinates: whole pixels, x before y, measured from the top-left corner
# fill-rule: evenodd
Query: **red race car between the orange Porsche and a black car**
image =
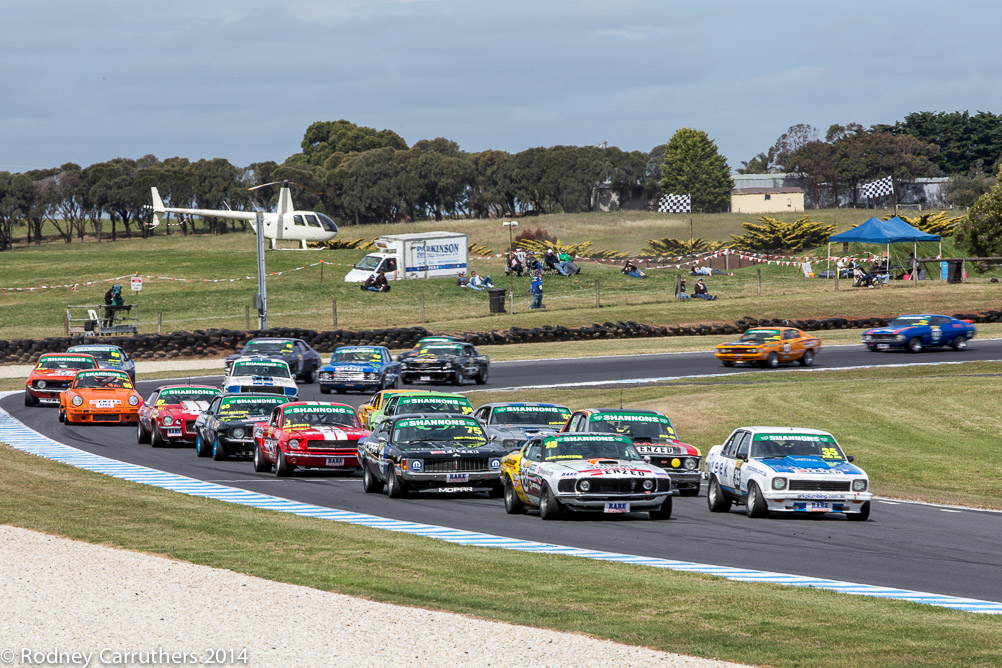
<path id="1" fill-rule="evenodd" d="M 136 441 L 152 442 L 154 448 L 168 444 L 193 444 L 194 421 L 208 403 L 222 394 L 211 386 L 165 385 L 153 391 L 139 408 Z"/>

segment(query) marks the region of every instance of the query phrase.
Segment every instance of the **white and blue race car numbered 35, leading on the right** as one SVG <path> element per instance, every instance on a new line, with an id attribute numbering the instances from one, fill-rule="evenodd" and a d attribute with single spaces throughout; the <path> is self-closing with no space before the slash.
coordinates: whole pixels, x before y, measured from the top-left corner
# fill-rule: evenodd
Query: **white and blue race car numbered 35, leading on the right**
<path id="1" fill-rule="evenodd" d="M 870 517 L 870 479 L 828 432 L 741 427 L 706 455 L 706 503 L 714 513 L 743 504 L 748 517 L 770 513 L 845 513 Z"/>

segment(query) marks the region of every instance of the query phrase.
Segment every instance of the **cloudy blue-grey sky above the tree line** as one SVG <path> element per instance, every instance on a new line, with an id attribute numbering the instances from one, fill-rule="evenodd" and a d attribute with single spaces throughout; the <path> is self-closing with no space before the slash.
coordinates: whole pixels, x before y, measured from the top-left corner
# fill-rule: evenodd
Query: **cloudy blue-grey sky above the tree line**
<path id="1" fill-rule="evenodd" d="M 318 120 L 469 152 L 705 131 L 731 169 L 791 125 L 1002 113 L 1002 3 L 8 3 L 0 170 L 152 153 L 282 162 Z"/>

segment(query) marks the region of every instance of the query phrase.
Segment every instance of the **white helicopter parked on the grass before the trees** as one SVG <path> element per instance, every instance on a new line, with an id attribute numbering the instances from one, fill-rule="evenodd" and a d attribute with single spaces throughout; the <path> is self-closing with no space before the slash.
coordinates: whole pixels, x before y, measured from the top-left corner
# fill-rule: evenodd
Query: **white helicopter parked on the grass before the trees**
<path id="1" fill-rule="evenodd" d="M 255 190 L 263 188 L 266 185 L 275 185 L 276 183 L 264 183 L 249 189 Z M 247 220 L 250 222 L 252 227 L 255 227 L 258 219 L 258 214 L 255 211 L 164 206 L 156 187 L 151 187 L 150 190 L 153 195 L 152 227 L 160 224 L 160 215 L 167 212 L 202 217 Z M 284 181 L 282 190 L 279 191 L 279 210 L 275 213 L 264 213 L 263 216 L 265 221 L 265 238 L 272 240 L 272 250 L 276 249 L 276 241 L 279 239 L 300 241 L 303 244 L 303 249 L 306 250 L 307 241 L 329 241 L 338 235 L 338 225 L 323 213 L 293 210 L 293 195 L 289 190 L 289 181 Z M 255 228 L 255 231 L 257 231 L 257 228 Z"/>

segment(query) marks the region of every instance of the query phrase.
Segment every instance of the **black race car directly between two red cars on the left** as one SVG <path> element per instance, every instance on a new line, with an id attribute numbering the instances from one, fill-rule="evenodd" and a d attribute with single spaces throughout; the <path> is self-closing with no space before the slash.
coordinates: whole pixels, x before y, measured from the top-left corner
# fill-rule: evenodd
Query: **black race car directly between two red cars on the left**
<path id="1" fill-rule="evenodd" d="M 254 426 L 268 422 L 272 410 L 289 400 L 277 395 L 222 395 L 212 400 L 194 421 L 194 452 L 198 457 L 224 460 L 254 454 Z"/>

